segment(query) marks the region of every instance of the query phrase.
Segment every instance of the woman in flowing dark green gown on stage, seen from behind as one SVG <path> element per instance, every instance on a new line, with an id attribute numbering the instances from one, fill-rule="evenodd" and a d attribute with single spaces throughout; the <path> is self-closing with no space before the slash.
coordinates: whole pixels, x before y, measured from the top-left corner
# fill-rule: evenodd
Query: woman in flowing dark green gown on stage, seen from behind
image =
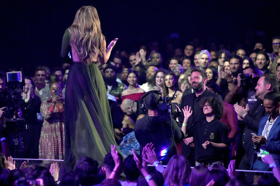
<path id="1" fill-rule="evenodd" d="M 100 163 L 115 144 L 110 107 L 104 81 L 95 62 L 108 61 L 118 39 L 106 50 L 97 10 L 80 8 L 73 24 L 65 31 L 61 57 L 72 53 L 65 90 L 65 155 L 67 171 L 83 156 Z M 116 145 L 117 146 L 117 145 Z"/>

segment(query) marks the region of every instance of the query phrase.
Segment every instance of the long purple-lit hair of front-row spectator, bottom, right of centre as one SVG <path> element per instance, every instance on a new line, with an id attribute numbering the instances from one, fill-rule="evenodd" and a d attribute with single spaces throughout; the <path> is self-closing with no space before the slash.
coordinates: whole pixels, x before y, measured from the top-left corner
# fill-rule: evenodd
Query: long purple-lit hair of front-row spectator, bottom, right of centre
<path id="1" fill-rule="evenodd" d="M 163 177 L 167 186 L 183 186 L 188 183 L 190 178 L 190 164 L 182 155 L 174 155 L 169 160 L 166 169 L 163 171 Z"/>

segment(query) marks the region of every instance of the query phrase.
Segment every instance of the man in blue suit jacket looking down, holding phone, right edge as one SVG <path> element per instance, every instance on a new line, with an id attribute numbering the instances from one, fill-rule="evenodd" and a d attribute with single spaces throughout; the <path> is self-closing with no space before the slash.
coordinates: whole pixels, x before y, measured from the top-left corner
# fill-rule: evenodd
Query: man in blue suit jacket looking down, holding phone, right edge
<path id="1" fill-rule="evenodd" d="M 268 116 L 262 117 L 258 129 L 258 135 L 253 135 L 253 146 L 255 153 L 251 169 L 256 171 L 267 171 L 269 168 L 280 167 L 280 93 L 268 92 L 263 99 L 263 105 Z M 272 155 L 275 164 L 265 164 L 261 158 Z"/>

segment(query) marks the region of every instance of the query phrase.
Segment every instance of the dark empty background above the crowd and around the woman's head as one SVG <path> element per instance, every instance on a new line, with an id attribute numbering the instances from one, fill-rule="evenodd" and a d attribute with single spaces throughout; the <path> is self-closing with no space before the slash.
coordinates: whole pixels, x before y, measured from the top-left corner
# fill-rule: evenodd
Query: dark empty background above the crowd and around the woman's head
<path id="1" fill-rule="evenodd" d="M 33 75 L 35 66 L 60 66 L 64 31 L 76 11 L 85 5 L 97 8 L 107 43 L 118 37 L 113 50 L 128 53 L 142 44 L 168 43 L 184 49 L 199 38 L 204 49 L 211 43 L 247 54 L 256 42 L 272 52 L 272 37 L 279 33 L 280 1 L 1 1 L 1 69 L 24 67 Z M 178 38 L 171 38 L 171 33 Z M 249 54 L 248 54 L 249 55 Z"/>

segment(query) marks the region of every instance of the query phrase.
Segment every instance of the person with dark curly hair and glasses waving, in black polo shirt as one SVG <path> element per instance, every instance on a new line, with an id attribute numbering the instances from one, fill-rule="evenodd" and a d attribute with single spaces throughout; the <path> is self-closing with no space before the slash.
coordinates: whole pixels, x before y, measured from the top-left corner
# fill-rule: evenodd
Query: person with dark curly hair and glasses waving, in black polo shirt
<path id="1" fill-rule="evenodd" d="M 184 121 L 182 131 L 185 137 L 193 137 L 195 143 L 195 165 L 202 164 L 207 168 L 211 164 L 223 165 L 223 154 L 229 146 L 227 127 L 219 121 L 223 116 L 223 102 L 212 96 L 202 98 L 199 107 L 206 117 L 203 122 L 197 122 L 187 130 L 188 118 L 192 108 L 183 108 Z"/>

